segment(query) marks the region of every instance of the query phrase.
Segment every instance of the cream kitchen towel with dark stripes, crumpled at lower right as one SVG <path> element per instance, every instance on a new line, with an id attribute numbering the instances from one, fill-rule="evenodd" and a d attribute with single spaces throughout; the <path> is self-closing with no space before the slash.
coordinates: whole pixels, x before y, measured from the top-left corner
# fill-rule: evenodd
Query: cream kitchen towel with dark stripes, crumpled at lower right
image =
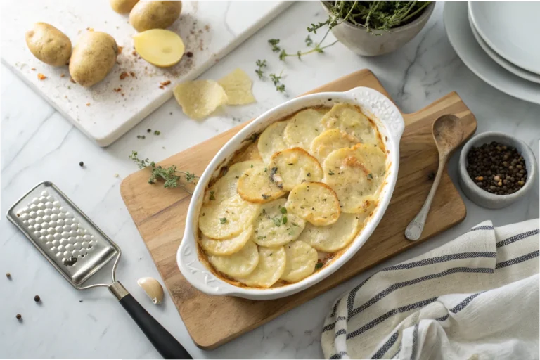
<path id="1" fill-rule="evenodd" d="M 326 317 L 326 359 L 540 359 L 540 219 L 378 271 Z"/>

